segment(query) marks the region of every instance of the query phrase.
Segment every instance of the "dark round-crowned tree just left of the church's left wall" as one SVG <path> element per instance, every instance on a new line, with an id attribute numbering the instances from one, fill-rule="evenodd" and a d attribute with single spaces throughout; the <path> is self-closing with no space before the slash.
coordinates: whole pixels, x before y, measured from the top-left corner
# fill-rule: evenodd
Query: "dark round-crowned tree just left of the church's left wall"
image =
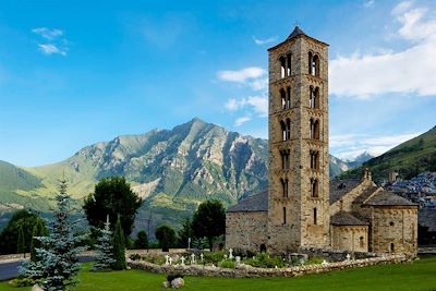
<path id="1" fill-rule="evenodd" d="M 192 229 L 195 237 L 206 237 L 213 248 L 214 238 L 226 233 L 226 210 L 221 202 L 202 203 L 194 213 Z"/>

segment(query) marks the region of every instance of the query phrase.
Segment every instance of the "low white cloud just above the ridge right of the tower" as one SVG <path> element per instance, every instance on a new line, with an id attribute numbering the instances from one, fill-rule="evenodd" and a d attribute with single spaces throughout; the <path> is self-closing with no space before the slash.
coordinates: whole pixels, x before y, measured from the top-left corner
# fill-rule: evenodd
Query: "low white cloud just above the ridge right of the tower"
<path id="1" fill-rule="evenodd" d="M 334 156 L 349 160 L 354 159 L 364 151 L 373 156 L 379 156 L 419 134 L 420 133 L 407 133 L 375 137 L 366 134 L 332 135 L 330 136 L 330 150 Z"/>

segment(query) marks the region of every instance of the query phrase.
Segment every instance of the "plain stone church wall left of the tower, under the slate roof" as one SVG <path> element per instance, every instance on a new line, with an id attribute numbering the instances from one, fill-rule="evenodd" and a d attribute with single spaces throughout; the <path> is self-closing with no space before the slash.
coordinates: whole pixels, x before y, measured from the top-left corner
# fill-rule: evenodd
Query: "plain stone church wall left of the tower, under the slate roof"
<path id="1" fill-rule="evenodd" d="M 268 241 L 268 214 L 266 211 L 227 213 L 226 248 L 261 251 Z"/>

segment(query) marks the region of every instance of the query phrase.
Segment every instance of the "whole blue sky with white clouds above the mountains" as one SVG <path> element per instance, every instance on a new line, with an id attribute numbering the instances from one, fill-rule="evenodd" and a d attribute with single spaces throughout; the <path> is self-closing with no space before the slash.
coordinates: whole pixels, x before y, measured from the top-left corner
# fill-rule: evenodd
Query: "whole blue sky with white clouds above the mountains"
<path id="1" fill-rule="evenodd" d="M 0 2 L 0 159 L 38 166 L 198 117 L 267 136 L 267 52 L 329 47 L 330 151 L 436 125 L 434 1 Z"/>

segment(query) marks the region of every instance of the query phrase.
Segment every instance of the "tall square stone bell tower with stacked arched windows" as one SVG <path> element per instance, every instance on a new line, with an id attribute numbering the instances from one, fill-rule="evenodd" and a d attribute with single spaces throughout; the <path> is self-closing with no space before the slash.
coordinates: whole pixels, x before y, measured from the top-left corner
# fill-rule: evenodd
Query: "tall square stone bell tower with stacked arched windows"
<path id="1" fill-rule="evenodd" d="M 268 52 L 268 248 L 326 248 L 330 196 L 328 45 L 296 26 Z"/>

